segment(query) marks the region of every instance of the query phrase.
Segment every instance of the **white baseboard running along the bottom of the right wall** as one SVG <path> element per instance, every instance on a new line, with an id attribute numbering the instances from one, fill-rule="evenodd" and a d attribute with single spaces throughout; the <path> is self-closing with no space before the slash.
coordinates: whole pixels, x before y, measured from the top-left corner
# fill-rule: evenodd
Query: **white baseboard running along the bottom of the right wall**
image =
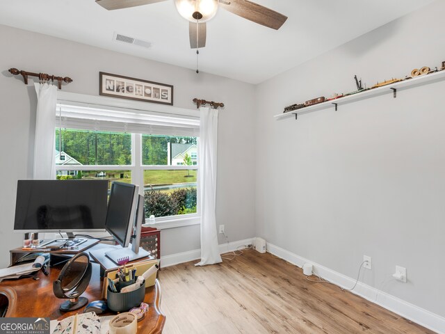
<path id="1" fill-rule="evenodd" d="M 344 276 L 337 271 L 333 271 L 321 266 L 320 264 L 316 264 L 313 261 L 307 260 L 304 257 L 293 254 L 289 252 L 289 250 L 285 250 L 270 243 L 266 244 L 266 248 L 268 253 L 281 257 L 283 260 L 295 264 L 297 267 L 301 268 L 306 262 L 313 264 L 314 269 L 316 269 L 316 273 L 319 276 L 325 280 L 329 280 L 335 285 L 339 285 L 340 287 L 350 288 L 355 283 L 355 279 Z M 435 313 L 419 308 L 412 303 L 398 299 L 395 296 L 391 296 L 386 292 L 382 292 L 379 289 L 375 289 L 375 287 L 371 287 L 361 282 L 357 283 L 357 287 L 355 287 L 353 290 L 353 294 L 357 294 L 357 296 L 361 296 L 372 303 L 378 304 L 382 306 L 382 308 L 386 308 L 391 312 L 401 315 L 402 317 L 426 327 L 431 331 L 435 331 L 439 334 L 445 334 L 445 318 L 436 315 Z"/>

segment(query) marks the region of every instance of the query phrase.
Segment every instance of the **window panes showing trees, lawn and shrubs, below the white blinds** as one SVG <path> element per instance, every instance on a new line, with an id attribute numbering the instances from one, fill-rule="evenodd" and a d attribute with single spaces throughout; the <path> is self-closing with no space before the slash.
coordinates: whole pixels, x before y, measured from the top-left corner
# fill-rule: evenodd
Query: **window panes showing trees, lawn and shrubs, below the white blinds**
<path id="1" fill-rule="evenodd" d="M 108 187 L 113 181 L 138 184 L 145 218 L 196 214 L 197 166 L 186 165 L 184 158 L 179 162 L 179 157 L 177 165 L 169 165 L 168 157 L 171 147 L 196 146 L 196 137 L 56 129 L 56 148 L 59 143 L 64 143 L 65 160 L 56 151 L 58 180 L 105 179 Z"/>

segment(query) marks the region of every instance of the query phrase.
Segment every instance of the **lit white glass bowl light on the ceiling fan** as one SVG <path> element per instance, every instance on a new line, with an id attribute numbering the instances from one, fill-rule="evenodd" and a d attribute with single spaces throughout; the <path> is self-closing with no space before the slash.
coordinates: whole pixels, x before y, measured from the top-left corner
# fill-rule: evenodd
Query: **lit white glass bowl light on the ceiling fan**
<path id="1" fill-rule="evenodd" d="M 218 0 L 175 0 L 179 14 L 190 22 L 207 22 L 218 11 Z"/>

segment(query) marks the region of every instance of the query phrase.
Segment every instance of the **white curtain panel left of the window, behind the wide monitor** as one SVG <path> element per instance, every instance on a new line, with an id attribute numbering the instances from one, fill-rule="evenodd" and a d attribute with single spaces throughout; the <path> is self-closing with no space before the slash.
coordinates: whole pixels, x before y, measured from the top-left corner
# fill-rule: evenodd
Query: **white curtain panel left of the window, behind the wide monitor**
<path id="1" fill-rule="evenodd" d="M 34 179 L 54 180 L 57 86 L 47 83 L 35 84 L 35 92 L 38 102 L 35 116 Z"/>

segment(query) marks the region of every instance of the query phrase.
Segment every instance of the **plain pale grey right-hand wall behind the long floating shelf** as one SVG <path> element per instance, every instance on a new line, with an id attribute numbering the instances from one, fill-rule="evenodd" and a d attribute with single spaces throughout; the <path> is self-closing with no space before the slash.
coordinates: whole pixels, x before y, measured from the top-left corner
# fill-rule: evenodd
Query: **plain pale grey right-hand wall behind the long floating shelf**
<path id="1" fill-rule="evenodd" d="M 275 120 L 284 106 L 445 61 L 445 1 L 257 86 L 257 235 L 445 316 L 445 81 Z M 341 24 L 341 22 L 339 22 Z M 327 31 L 326 33 L 329 33 Z M 391 279 L 395 266 L 409 282 Z"/>

